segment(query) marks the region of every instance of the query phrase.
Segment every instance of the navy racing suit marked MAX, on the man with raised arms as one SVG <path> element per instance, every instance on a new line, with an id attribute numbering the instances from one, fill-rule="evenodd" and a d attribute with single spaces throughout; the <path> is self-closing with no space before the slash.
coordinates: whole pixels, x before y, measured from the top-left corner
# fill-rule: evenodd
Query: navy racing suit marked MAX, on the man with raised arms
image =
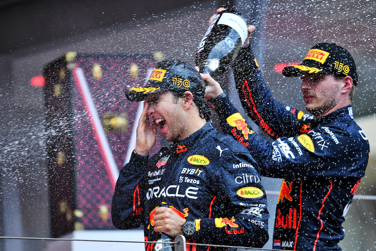
<path id="1" fill-rule="evenodd" d="M 250 46 L 233 66 L 246 113 L 273 141 L 257 135 L 225 93 L 211 100 L 223 130 L 247 147 L 262 176 L 283 178 L 276 208 L 273 248 L 341 250 L 341 227 L 370 148 L 346 106 L 315 120 L 273 99 Z"/>

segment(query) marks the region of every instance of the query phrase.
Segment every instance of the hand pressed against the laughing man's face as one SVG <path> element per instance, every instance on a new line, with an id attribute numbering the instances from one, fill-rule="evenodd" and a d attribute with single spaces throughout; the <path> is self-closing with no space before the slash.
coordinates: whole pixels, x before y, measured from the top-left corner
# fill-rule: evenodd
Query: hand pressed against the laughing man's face
<path id="1" fill-rule="evenodd" d="M 149 108 L 149 103 L 147 100 L 144 101 L 144 109 L 142 111 L 141 117 L 138 120 L 137 134 L 136 134 L 136 153 L 139 155 L 147 155 L 150 149 L 153 148 L 156 141 L 157 135 L 157 125 L 153 121 L 150 127 L 149 116 L 147 115 L 147 110 Z"/>

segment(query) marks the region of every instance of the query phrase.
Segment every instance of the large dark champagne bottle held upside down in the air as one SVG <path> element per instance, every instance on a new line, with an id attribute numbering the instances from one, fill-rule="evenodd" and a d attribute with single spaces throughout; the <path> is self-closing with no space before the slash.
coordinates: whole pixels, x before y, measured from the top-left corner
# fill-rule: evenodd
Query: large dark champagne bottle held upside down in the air
<path id="1" fill-rule="evenodd" d="M 200 73 L 213 78 L 224 73 L 248 37 L 247 19 L 238 11 L 219 12 L 197 49 L 196 65 Z"/>

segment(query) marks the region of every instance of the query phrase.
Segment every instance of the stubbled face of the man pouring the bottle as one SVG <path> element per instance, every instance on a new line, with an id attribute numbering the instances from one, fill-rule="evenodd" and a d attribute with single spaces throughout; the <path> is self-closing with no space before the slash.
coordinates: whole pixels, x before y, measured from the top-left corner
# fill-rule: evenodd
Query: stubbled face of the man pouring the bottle
<path id="1" fill-rule="evenodd" d="M 305 108 L 315 117 L 334 111 L 339 102 L 343 81 L 333 75 L 302 75 Z"/>

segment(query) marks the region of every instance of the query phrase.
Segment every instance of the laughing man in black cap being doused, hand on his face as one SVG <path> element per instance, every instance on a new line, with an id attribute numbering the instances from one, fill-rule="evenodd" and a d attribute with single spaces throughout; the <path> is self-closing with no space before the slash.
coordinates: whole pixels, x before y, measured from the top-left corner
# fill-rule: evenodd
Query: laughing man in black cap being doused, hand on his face
<path id="1" fill-rule="evenodd" d="M 211 126 L 204 86 L 191 65 L 163 61 L 145 86 L 126 91 L 129 100 L 145 101 L 136 149 L 116 183 L 112 222 L 120 229 L 144 225 L 153 242 L 145 250 L 161 249 L 154 245 L 163 242 L 159 232 L 183 234 L 188 243 L 262 247 L 268 240 L 258 166 L 244 146 Z M 157 128 L 171 145 L 149 158 Z"/>

